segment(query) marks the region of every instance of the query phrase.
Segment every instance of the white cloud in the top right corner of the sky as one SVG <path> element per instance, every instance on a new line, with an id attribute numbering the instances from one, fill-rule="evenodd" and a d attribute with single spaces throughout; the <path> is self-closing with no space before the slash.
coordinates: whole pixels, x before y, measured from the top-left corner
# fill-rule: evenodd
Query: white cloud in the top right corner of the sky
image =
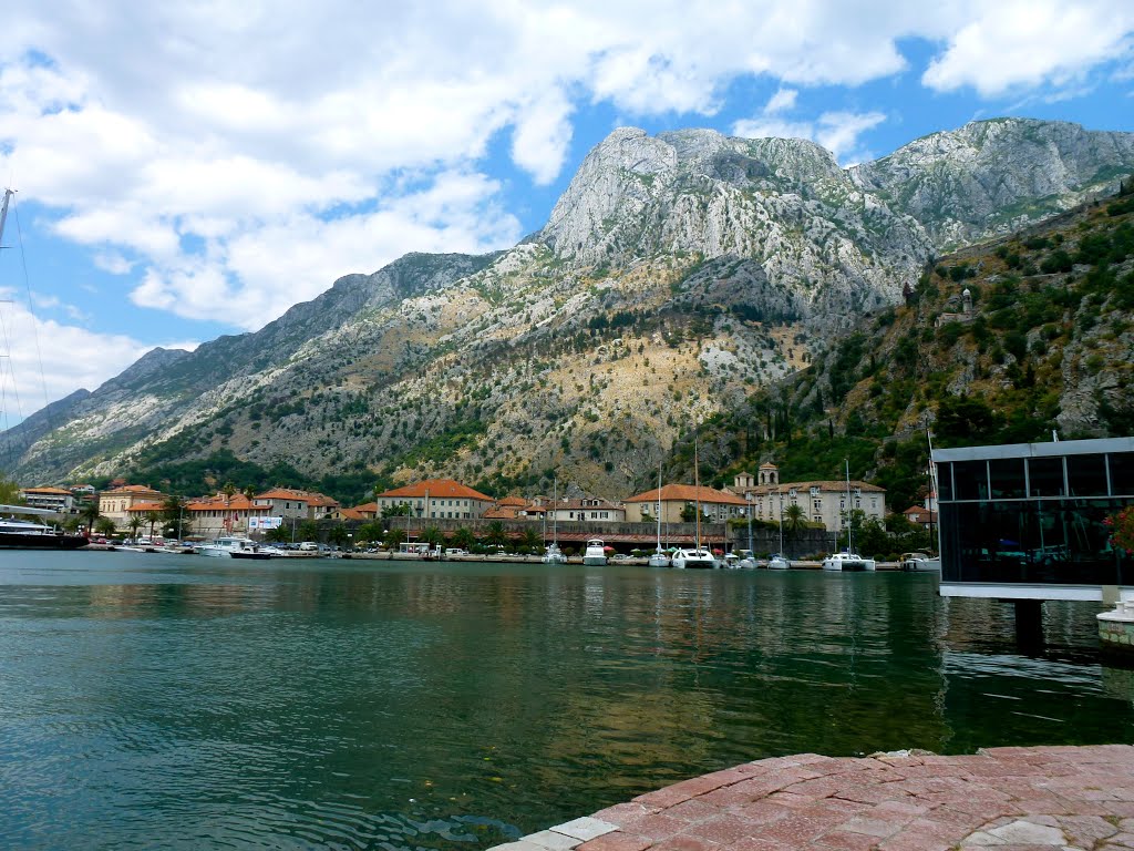
<path id="1" fill-rule="evenodd" d="M 1132 28 L 1129 2 L 987 3 L 951 34 L 922 82 L 938 91 L 973 86 L 983 96 L 1018 86 L 1067 85 L 1100 62 L 1128 58 Z"/>

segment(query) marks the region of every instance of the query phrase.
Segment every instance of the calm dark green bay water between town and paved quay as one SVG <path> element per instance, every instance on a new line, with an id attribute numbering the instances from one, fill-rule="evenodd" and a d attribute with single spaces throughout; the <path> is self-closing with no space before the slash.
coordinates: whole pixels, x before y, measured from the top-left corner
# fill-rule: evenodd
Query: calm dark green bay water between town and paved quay
<path id="1" fill-rule="evenodd" d="M 1126 742 L 931 574 L 0 554 L 0 846 L 476 849 L 768 756 Z"/>

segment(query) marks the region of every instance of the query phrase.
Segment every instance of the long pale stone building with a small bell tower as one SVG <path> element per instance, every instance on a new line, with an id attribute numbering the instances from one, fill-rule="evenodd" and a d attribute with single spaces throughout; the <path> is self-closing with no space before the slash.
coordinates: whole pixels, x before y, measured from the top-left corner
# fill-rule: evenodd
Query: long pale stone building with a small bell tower
<path id="1" fill-rule="evenodd" d="M 751 473 L 735 477 L 731 491 L 742 502 L 752 503 L 752 519 L 779 523 L 788 506 L 803 509 L 804 520 L 821 523 L 829 532 L 846 528 L 848 508 L 861 511 L 868 520 L 886 517 L 886 490 L 877 485 L 852 479 L 780 482 L 779 467 L 761 464 L 759 477 Z"/>

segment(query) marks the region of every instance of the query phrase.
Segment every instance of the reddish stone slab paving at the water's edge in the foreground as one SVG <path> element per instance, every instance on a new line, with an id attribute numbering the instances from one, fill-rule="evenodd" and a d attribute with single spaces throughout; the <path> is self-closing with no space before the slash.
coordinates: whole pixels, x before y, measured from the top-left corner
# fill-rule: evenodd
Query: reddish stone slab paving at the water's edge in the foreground
<path id="1" fill-rule="evenodd" d="M 1134 747 L 746 762 L 494 851 L 1134 850 Z"/>

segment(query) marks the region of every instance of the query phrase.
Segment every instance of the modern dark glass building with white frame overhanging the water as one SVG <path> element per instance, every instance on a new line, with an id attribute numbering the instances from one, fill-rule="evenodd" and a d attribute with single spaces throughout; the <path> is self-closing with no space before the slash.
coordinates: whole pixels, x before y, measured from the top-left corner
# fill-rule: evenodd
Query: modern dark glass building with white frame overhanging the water
<path id="1" fill-rule="evenodd" d="M 1101 600 L 1134 588 L 1109 515 L 1134 503 L 1134 438 L 934 449 L 941 593 Z"/>

